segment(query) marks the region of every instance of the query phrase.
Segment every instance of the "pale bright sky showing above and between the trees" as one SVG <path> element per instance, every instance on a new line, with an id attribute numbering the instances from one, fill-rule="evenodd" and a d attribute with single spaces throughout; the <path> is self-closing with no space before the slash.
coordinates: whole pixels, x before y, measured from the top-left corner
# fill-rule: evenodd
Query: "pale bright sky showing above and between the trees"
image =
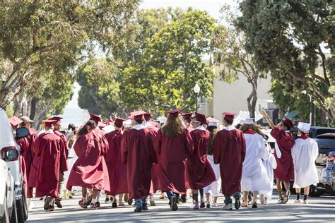
<path id="1" fill-rule="evenodd" d="M 202 11 L 208 11 L 208 13 L 217 20 L 220 18 L 220 8 L 223 4 L 230 4 L 231 6 L 236 6 L 236 0 L 143 0 L 141 2 L 140 8 L 167 8 L 172 6 L 173 8 L 183 8 L 187 9 L 189 6 L 192 8 L 199 9 Z M 87 121 L 88 114 L 84 112 L 78 106 L 78 91 L 80 90 L 80 86 L 78 83 L 74 85 L 74 96 L 72 100 L 66 105 L 64 109 L 64 114 L 62 116 L 64 119 L 62 120 L 62 126 L 66 127 L 69 123 L 74 123 L 76 126 L 80 126 L 82 123 Z"/>

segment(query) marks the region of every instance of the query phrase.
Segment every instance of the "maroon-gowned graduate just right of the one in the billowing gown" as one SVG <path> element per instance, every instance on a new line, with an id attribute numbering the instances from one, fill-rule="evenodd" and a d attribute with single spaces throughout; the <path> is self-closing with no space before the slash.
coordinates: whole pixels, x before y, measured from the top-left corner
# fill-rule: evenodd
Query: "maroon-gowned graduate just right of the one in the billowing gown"
<path id="1" fill-rule="evenodd" d="M 123 206 L 122 195 L 128 193 L 127 164 L 121 163 L 121 142 L 123 135 L 124 119 L 114 120 L 114 131 L 106 133 L 108 141 L 108 152 L 106 155 L 106 164 L 110 176 L 110 191 L 107 195 L 112 195 L 112 207 L 117 207 L 115 195 L 119 195 L 119 206 Z"/>

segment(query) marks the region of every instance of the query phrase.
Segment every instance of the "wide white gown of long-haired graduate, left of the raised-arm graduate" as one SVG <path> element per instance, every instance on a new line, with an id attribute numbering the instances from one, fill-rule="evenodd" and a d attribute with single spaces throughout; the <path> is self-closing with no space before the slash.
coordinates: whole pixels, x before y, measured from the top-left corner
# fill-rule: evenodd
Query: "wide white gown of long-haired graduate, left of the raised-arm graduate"
<path id="1" fill-rule="evenodd" d="M 243 191 L 270 191 L 272 183 L 262 159 L 268 158 L 268 150 L 261 135 L 245 134 L 246 154 L 243 162 L 241 187 Z"/>

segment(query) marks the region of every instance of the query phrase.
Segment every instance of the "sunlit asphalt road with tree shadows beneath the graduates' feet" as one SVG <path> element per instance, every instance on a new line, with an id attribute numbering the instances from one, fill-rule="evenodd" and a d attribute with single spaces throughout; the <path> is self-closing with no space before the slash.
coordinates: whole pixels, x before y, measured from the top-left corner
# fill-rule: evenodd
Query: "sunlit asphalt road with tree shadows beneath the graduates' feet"
<path id="1" fill-rule="evenodd" d="M 34 200 L 35 207 L 29 211 L 28 222 L 335 222 L 335 197 L 324 195 L 319 198 L 308 198 L 309 205 L 293 204 L 295 195 L 285 205 L 278 205 L 278 195 L 268 205 L 259 205 L 257 209 L 241 207 L 240 210 L 223 211 L 223 196 L 218 198 L 218 207 L 192 210 L 192 200 L 180 204 L 179 210 L 173 212 L 167 205 L 167 198 L 159 199 L 155 195 L 156 206 L 149 210 L 134 212 L 134 207 L 126 204 L 124 207 L 112 208 L 111 203 L 105 203 L 105 195 L 100 199 L 98 210 L 83 210 L 78 206 L 81 198 L 79 192 L 73 199 L 62 200 L 63 208 L 55 207 L 53 212 L 43 210 L 43 202 Z"/>

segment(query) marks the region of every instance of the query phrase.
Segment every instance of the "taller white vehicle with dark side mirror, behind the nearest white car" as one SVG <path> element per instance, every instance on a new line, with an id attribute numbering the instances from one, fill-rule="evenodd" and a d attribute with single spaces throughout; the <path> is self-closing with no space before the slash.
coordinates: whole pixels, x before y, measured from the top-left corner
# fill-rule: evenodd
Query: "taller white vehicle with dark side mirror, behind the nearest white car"
<path id="1" fill-rule="evenodd" d="M 18 128 L 16 131 L 16 139 L 29 135 L 27 128 Z M 16 215 L 18 222 L 25 222 L 28 219 L 28 209 L 25 198 L 25 190 L 23 186 L 23 174 L 20 164 L 20 147 L 16 144 L 11 124 L 8 121 L 4 109 L 0 108 L 0 154 L 11 170 L 14 179 L 14 194 L 16 200 Z M 16 218 L 15 217 L 15 218 Z"/>

